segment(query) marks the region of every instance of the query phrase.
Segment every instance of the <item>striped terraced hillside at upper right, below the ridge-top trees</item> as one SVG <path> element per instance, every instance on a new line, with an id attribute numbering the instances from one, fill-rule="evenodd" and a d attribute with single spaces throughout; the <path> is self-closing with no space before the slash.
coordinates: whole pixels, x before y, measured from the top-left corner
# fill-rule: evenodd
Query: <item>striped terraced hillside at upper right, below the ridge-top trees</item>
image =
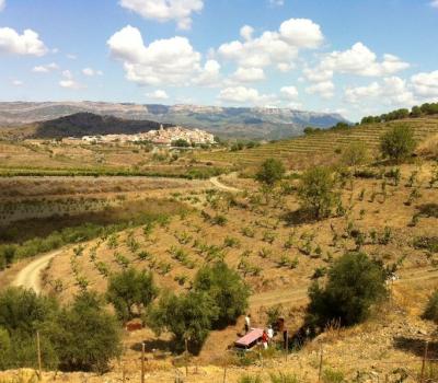
<path id="1" fill-rule="evenodd" d="M 306 162 L 307 165 L 333 162 L 341 154 L 342 148 L 351 142 L 365 142 L 367 148 L 377 149 L 380 136 L 396 124 L 401 121 L 367 124 L 347 130 L 321 131 L 253 149 L 203 153 L 200 159 L 237 165 L 255 165 L 267 158 L 281 159 L 293 165 L 300 162 Z M 402 124 L 412 126 L 417 140 L 438 134 L 438 117 L 410 118 L 404 119 Z"/>

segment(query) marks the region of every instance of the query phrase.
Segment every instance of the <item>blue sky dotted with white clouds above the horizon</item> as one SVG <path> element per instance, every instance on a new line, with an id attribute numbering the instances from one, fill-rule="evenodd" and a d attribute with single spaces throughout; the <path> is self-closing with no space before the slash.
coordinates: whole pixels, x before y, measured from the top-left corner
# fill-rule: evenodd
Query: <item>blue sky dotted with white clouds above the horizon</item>
<path id="1" fill-rule="evenodd" d="M 0 101 L 438 101 L 438 0 L 0 0 Z"/>

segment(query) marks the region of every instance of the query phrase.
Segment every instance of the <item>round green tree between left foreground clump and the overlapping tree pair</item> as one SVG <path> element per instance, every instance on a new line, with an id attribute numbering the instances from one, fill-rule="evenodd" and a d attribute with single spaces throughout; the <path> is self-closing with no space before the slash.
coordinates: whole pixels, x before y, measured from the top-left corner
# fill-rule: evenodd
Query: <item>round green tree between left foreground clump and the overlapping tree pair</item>
<path id="1" fill-rule="evenodd" d="M 157 298 L 157 293 L 153 275 L 130 267 L 110 278 L 106 299 L 113 303 L 118 318 L 127 322 L 135 317 L 135 309 L 140 315 L 141 310 Z"/>

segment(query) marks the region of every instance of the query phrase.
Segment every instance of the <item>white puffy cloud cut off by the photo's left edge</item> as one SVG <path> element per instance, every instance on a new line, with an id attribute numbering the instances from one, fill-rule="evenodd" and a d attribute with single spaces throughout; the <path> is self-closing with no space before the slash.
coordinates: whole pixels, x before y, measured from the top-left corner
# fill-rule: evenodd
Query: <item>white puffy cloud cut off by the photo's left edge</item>
<path id="1" fill-rule="evenodd" d="M 0 28 L 0 55 L 44 56 L 47 50 L 38 34 L 32 30 L 25 30 L 20 35 L 15 30 L 9 27 Z"/>

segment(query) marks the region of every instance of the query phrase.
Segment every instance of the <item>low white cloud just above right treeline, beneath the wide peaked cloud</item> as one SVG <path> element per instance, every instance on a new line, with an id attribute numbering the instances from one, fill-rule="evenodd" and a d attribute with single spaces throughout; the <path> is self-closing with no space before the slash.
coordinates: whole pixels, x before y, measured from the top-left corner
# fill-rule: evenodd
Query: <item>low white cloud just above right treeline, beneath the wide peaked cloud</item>
<path id="1" fill-rule="evenodd" d="M 399 77 L 384 78 L 366 86 L 347 88 L 344 98 L 351 104 L 389 105 L 392 107 L 412 106 L 416 103 L 406 80 Z"/>

